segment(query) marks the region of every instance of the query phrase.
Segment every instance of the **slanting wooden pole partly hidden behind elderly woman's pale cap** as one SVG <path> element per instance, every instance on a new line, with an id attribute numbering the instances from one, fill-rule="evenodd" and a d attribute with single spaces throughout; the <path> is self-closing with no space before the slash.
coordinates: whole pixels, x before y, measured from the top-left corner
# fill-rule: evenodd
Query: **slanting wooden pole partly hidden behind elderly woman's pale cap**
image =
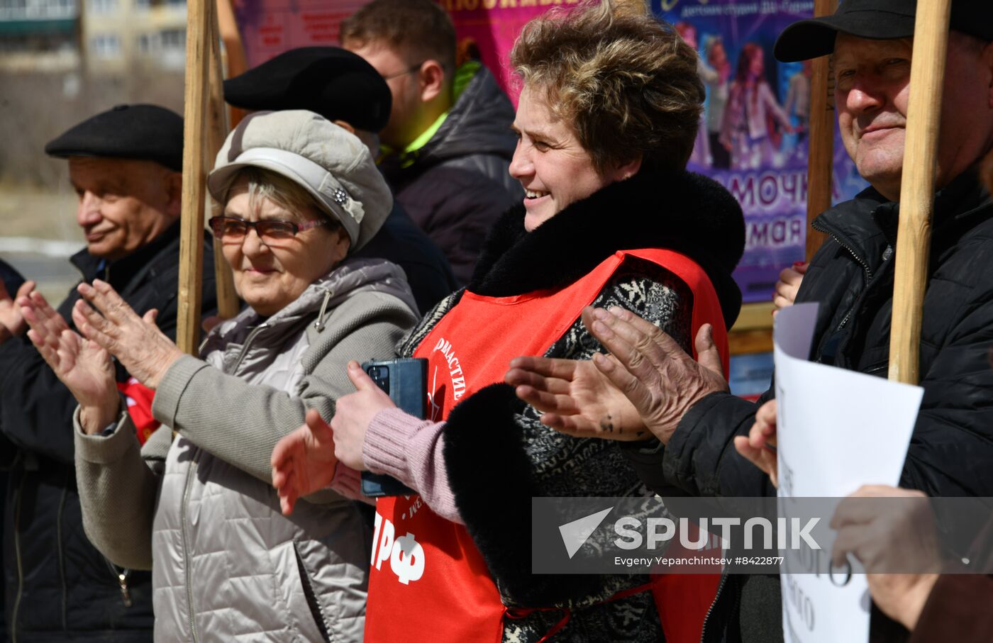
<path id="1" fill-rule="evenodd" d="M 207 0 L 210 2 L 210 0 Z M 205 168 L 213 168 L 213 160 L 217 156 L 217 151 L 224 144 L 227 136 L 227 110 L 224 108 L 224 74 L 220 65 L 220 41 L 217 38 L 217 19 L 220 4 L 226 0 L 217 0 L 218 11 L 212 12 L 212 36 L 211 36 L 211 64 L 210 81 L 211 93 L 208 98 L 208 127 L 207 145 L 204 146 Z M 230 5 L 227 5 L 230 7 Z M 234 280 L 231 277 L 231 268 L 224 260 L 221 252 L 220 241 L 213 240 L 213 277 L 217 291 L 217 317 L 229 320 L 238 314 L 240 305 L 237 293 L 234 292 Z"/>

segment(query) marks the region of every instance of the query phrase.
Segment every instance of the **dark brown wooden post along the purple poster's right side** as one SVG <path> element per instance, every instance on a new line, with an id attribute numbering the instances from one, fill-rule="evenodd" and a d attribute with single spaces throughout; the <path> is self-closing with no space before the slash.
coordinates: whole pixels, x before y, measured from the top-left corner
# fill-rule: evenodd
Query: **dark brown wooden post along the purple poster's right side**
<path id="1" fill-rule="evenodd" d="M 837 0 L 814 0 L 813 15 L 829 16 Z M 831 206 L 831 166 L 834 162 L 834 111 L 828 94 L 828 60 L 826 56 L 811 62 L 810 138 L 807 142 L 807 226 L 806 260 L 817 252 L 827 235 L 810 224 Z"/>

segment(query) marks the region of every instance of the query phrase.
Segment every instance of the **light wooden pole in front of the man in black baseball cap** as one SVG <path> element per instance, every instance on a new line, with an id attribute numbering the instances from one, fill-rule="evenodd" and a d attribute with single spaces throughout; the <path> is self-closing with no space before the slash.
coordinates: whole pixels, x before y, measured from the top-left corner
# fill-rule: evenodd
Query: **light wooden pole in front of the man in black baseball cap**
<path id="1" fill-rule="evenodd" d="M 920 381 L 921 317 L 950 12 L 951 0 L 918 0 L 914 26 L 890 330 L 890 379 L 908 384 Z"/>

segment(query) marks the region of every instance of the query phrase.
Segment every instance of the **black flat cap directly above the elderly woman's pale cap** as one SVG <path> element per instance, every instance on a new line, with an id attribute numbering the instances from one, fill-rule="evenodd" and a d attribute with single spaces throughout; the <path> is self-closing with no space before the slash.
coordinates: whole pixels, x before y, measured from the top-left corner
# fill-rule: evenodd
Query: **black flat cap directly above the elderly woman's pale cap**
<path id="1" fill-rule="evenodd" d="M 224 80 L 224 100 L 251 110 L 307 109 L 377 133 L 392 96 L 375 68 L 337 47 L 304 47 Z"/>

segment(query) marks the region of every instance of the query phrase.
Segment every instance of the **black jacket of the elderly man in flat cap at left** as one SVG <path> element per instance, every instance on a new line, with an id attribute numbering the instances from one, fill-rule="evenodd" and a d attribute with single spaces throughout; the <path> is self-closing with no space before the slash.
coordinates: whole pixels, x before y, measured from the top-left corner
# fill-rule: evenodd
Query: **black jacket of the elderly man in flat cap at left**
<path id="1" fill-rule="evenodd" d="M 158 309 L 176 336 L 179 224 L 131 255 L 107 263 L 84 250 L 71 262 L 83 281 L 108 281 L 140 315 Z M 216 310 L 213 244 L 205 243 L 203 311 Z M 70 322 L 73 288 L 59 307 Z M 128 375 L 119 365 L 117 381 Z M 0 344 L 0 459 L 10 467 L 4 516 L 7 635 L 12 641 L 152 640 L 147 572 L 114 568 L 86 539 L 73 467 L 76 402 L 27 337 Z M 125 599 L 119 576 L 124 575 Z"/>

